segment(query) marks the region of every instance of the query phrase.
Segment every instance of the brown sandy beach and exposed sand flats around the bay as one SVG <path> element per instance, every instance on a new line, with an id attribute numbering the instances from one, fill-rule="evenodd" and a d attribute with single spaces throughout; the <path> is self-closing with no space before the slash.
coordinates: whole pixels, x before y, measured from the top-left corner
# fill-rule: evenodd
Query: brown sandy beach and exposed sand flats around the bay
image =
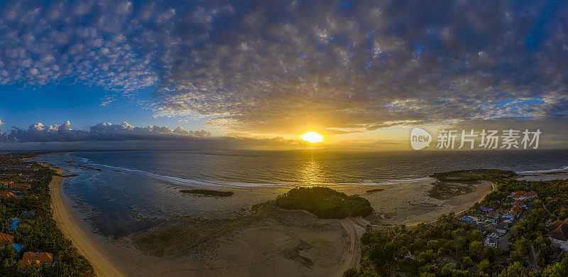
<path id="1" fill-rule="evenodd" d="M 274 219 L 220 237 L 206 249 L 166 259 L 144 254 L 129 237 L 106 239 L 94 234 L 70 205 L 61 184 L 58 176 L 50 183 L 53 216 L 80 254 L 92 262 L 97 276 L 342 276 L 347 269 L 359 266 L 359 238 L 364 227 L 373 224 L 360 217 L 318 219 L 308 212 L 281 210 Z M 442 214 L 459 212 L 492 189 L 491 183 L 479 182 L 474 192 L 442 201 L 427 196 L 431 186 L 430 180 L 332 188 L 366 197 L 376 211 L 391 214 L 388 224 L 429 222 Z M 376 188 L 384 190 L 366 192 Z M 226 188 L 239 192 L 228 197 L 229 202 L 250 205 L 269 196 L 273 199 L 288 189 Z"/>

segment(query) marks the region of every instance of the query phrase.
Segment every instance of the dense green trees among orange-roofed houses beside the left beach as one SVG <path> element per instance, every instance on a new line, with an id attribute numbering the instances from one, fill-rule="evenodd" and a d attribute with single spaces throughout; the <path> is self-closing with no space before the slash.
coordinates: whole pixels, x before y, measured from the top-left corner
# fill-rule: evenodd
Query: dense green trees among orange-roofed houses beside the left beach
<path id="1" fill-rule="evenodd" d="M 94 273 L 89 261 L 77 253 L 53 220 L 49 183 L 55 172 L 38 163 L 20 160 L 32 157 L 32 153 L 11 153 L 2 155 L 0 160 L 1 165 L 38 168 L 35 171 L 0 170 L 0 180 L 31 185 L 29 190 L 15 192 L 17 198 L 0 200 L 0 232 L 13 235 L 13 242 L 24 246 L 21 253 L 17 253 L 11 244 L 0 245 L 0 276 L 88 276 Z M 29 195 L 36 195 L 38 199 Z M 16 230 L 9 228 L 13 218 L 21 219 Z M 28 274 L 19 273 L 17 261 L 24 251 L 52 253 L 53 266 L 33 268 Z"/>

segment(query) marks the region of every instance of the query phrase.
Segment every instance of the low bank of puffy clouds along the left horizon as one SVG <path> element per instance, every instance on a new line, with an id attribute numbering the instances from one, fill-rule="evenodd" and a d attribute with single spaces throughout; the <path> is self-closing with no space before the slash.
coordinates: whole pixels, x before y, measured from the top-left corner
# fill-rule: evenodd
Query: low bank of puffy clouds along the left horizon
<path id="1" fill-rule="evenodd" d="M 36 123 L 28 129 L 12 127 L 7 134 L 0 134 L 4 142 L 69 142 L 69 141 L 187 141 L 211 136 L 209 131 L 183 131 L 181 127 L 175 130 L 167 126 L 131 126 L 124 121 L 122 124 L 99 123 L 88 131 L 71 129 L 71 122 L 61 125 L 45 126 Z"/>

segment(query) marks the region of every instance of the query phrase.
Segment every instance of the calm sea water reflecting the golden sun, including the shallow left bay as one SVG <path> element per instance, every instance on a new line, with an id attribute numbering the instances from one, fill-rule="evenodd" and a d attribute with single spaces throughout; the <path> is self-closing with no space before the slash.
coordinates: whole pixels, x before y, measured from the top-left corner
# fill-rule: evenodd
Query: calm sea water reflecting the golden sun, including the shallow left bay
<path id="1" fill-rule="evenodd" d="M 65 194 L 97 232 L 122 236 L 163 219 L 224 217 L 264 201 L 187 197 L 178 192 L 180 188 L 236 186 L 252 191 L 284 185 L 404 185 L 447 170 L 565 170 L 568 150 L 117 151 L 50 153 L 38 161 L 77 174 L 65 179 Z"/>

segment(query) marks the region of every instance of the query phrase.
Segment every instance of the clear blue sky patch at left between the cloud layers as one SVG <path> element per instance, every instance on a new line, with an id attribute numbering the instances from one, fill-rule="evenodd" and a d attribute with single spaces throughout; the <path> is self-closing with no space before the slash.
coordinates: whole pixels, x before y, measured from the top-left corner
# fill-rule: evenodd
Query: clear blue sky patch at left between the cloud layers
<path id="1" fill-rule="evenodd" d="M 151 99 L 153 88 L 141 89 L 136 97 L 121 97 L 102 105 L 108 92 L 99 87 L 80 84 L 22 87 L 0 86 L 0 119 L 5 126 L 27 128 L 31 123 L 62 124 L 70 120 L 74 129 L 89 129 L 101 122 L 121 124 L 127 121 L 135 126 L 182 126 L 184 129 L 206 129 L 203 120 L 180 121 L 178 117 L 155 117 L 140 101 Z M 209 127 L 209 129 L 211 129 Z"/>

